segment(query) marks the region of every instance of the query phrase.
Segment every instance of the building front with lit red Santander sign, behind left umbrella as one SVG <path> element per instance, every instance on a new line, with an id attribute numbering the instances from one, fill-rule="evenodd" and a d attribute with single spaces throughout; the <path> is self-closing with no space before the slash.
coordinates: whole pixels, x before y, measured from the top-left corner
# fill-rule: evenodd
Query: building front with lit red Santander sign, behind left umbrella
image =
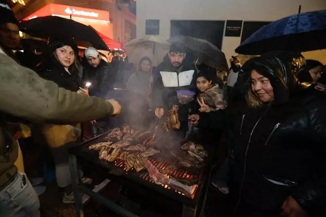
<path id="1" fill-rule="evenodd" d="M 15 4 L 18 20 L 55 15 L 90 25 L 122 44 L 136 37 L 136 15 L 129 8 L 133 0 L 25 0 Z"/>

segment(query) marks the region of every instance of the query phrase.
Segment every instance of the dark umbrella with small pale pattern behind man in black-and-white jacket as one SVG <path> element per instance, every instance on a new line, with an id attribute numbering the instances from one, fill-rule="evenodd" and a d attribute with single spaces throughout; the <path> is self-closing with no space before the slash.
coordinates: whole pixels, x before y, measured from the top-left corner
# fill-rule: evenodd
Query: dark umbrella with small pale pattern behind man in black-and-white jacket
<path id="1" fill-rule="evenodd" d="M 228 71 L 228 64 L 225 54 L 214 44 L 207 40 L 191 36 L 175 36 L 167 40 L 172 43 L 180 43 L 186 48 L 194 51 L 198 62 L 204 63 L 210 67 Z"/>

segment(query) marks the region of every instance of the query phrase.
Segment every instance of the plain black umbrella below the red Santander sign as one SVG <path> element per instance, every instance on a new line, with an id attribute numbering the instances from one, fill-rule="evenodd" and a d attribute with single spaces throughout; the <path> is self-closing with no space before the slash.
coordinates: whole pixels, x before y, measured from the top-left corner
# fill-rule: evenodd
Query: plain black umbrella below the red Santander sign
<path id="1" fill-rule="evenodd" d="M 108 46 L 95 30 L 72 19 L 57 16 L 37 17 L 21 22 L 21 31 L 34 37 L 72 38 L 90 42 L 93 47 L 108 50 Z"/>

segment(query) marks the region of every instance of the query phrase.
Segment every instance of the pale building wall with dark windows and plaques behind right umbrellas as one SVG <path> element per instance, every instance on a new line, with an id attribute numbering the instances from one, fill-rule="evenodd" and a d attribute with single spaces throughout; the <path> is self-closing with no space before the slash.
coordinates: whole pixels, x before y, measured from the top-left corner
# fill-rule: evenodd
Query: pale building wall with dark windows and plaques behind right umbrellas
<path id="1" fill-rule="evenodd" d="M 177 33 L 202 37 L 231 58 L 246 36 L 271 21 L 297 13 L 300 4 L 301 12 L 326 9 L 326 0 L 138 0 L 137 37 L 145 36 L 146 30 L 163 38 Z M 234 35 L 230 36 L 232 29 Z M 307 56 L 326 64 L 325 50 Z"/>

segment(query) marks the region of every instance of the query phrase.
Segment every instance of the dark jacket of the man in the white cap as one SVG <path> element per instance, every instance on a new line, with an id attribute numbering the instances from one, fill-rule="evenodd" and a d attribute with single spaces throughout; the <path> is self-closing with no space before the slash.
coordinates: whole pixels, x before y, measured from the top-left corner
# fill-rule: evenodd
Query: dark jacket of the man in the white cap
<path id="1" fill-rule="evenodd" d="M 109 63 L 101 60 L 101 63 L 96 67 L 84 64 L 82 75 L 82 83 L 91 82 L 89 87 L 89 95 L 103 97 L 107 92 L 113 90 L 115 75 Z"/>

